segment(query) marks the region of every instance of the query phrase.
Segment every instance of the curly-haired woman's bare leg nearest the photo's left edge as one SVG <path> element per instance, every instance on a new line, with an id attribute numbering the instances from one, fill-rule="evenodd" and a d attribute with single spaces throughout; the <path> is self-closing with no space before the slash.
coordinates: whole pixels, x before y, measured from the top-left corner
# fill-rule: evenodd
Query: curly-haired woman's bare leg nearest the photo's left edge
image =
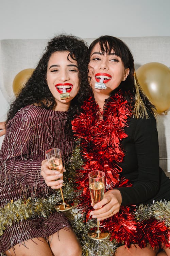
<path id="1" fill-rule="evenodd" d="M 7 256 L 52 256 L 47 241 L 42 237 L 29 239 L 22 244 L 17 244 L 5 253 Z"/>

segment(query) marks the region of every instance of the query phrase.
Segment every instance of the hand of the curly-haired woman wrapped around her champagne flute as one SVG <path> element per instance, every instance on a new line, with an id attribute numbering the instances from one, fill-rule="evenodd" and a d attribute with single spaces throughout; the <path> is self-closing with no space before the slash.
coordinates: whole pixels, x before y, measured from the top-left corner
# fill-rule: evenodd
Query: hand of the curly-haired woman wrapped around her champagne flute
<path id="1" fill-rule="evenodd" d="M 48 187 L 52 189 L 58 189 L 63 186 L 63 172 L 65 172 L 65 168 L 60 170 L 60 166 L 56 167 L 56 170 L 51 170 L 49 167 L 49 163 L 47 160 L 43 160 L 41 163 L 41 176 L 43 176 L 45 183 Z"/>

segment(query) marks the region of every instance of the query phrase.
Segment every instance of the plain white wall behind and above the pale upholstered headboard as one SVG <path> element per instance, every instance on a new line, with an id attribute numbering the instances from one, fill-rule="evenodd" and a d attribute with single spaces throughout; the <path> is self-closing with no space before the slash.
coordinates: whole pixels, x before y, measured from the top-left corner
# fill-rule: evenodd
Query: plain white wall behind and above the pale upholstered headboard
<path id="1" fill-rule="evenodd" d="M 0 40 L 170 35 L 169 10 L 170 0 L 0 0 Z M 0 91 L 0 121 L 8 106 Z"/>

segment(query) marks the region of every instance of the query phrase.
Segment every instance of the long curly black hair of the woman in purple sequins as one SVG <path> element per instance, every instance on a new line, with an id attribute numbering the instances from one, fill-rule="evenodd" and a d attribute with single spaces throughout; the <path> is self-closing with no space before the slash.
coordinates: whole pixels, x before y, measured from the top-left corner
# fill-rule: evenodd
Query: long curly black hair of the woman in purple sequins
<path id="1" fill-rule="evenodd" d="M 39 60 L 32 76 L 26 85 L 19 92 L 15 101 L 11 104 L 7 113 L 6 125 L 17 111 L 30 104 L 38 104 L 45 109 L 53 109 L 56 105 L 55 99 L 51 94 L 47 81 L 47 66 L 51 55 L 57 51 L 68 51 L 69 56 L 77 61 L 79 69 L 80 89 L 72 100 L 68 110 L 67 127 L 71 127 L 71 120 L 78 114 L 83 101 L 89 96 L 90 87 L 88 85 L 88 62 L 89 54 L 86 43 L 73 35 L 58 35 L 51 39 L 46 47 L 46 52 Z"/>

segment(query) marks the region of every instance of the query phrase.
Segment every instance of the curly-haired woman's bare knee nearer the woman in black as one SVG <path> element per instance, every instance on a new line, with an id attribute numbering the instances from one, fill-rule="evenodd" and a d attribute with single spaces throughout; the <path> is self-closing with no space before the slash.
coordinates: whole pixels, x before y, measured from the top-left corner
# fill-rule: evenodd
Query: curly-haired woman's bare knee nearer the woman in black
<path id="1" fill-rule="evenodd" d="M 59 240 L 58 240 L 59 237 Z M 51 251 L 54 256 L 81 256 L 82 248 L 71 229 L 61 229 L 49 236 Z"/>

